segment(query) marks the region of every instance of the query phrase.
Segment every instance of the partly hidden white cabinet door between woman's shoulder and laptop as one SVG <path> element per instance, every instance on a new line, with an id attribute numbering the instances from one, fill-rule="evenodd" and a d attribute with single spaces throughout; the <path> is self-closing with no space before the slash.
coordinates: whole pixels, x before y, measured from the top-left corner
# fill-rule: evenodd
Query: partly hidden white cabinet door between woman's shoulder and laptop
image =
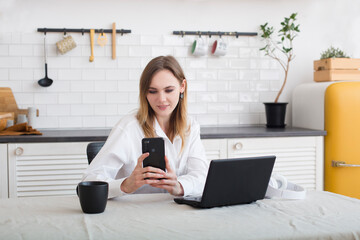
<path id="1" fill-rule="evenodd" d="M 226 158 L 227 140 L 226 139 L 203 139 L 201 142 L 205 148 L 205 154 L 208 161 L 214 159 Z"/>

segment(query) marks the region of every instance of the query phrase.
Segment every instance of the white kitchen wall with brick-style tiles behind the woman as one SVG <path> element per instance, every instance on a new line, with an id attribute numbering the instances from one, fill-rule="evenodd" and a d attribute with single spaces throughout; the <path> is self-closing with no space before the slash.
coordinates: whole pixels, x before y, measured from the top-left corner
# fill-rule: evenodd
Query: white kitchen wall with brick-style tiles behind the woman
<path id="1" fill-rule="evenodd" d="M 111 127 L 137 106 L 138 79 L 146 63 L 172 54 L 187 75 L 190 114 L 202 125 L 262 124 L 262 102 L 273 101 L 282 72 L 259 53 L 259 38 L 227 37 L 227 56 L 195 58 L 189 54 L 194 37 L 181 38 L 172 31 L 256 32 L 265 22 L 279 29 L 283 17 L 298 12 L 296 58 L 280 99 L 291 101 L 296 85 L 313 81 L 313 60 L 330 45 L 359 58 L 359 9 L 358 0 L 2 0 L 0 87 L 11 87 L 20 107 L 39 108 L 41 128 Z M 118 29 L 132 30 L 118 35 L 115 61 L 109 42 L 96 46 L 90 63 L 88 34 L 71 34 L 78 47 L 60 55 L 55 43 L 62 34 L 48 33 L 54 84 L 37 85 L 44 77 L 43 34 L 37 28 L 111 28 L 113 22 Z M 291 105 L 291 125 L 290 111 Z"/>

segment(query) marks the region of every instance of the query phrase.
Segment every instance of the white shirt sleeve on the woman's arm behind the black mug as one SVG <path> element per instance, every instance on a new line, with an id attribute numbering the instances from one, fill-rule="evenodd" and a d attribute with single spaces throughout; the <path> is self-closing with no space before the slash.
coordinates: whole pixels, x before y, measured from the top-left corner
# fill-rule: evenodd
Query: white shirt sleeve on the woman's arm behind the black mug
<path id="1" fill-rule="evenodd" d="M 125 195 L 120 186 L 126 178 L 116 179 L 119 170 L 129 159 L 127 133 L 115 127 L 104 146 L 85 170 L 82 181 L 105 181 L 109 183 L 109 198 Z"/>

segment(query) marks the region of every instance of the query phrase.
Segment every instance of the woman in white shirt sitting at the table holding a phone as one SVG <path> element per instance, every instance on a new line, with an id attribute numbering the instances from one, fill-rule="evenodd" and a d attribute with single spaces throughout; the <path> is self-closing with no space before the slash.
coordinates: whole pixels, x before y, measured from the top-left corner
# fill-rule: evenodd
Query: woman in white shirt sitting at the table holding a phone
<path id="1" fill-rule="evenodd" d="M 140 108 L 122 118 L 84 173 L 109 183 L 109 198 L 127 193 L 201 195 L 208 169 L 200 126 L 187 117 L 187 82 L 172 56 L 151 60 L 140 79 Z M 166 171 L 142 167 L 144 137 L 162 137 Z"/>

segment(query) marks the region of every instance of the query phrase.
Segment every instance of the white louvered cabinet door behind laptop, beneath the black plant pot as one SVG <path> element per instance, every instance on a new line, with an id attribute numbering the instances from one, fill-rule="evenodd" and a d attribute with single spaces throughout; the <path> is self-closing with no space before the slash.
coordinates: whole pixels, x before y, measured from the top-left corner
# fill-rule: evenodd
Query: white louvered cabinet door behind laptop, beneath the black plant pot
<path id="1" fill-rule="evenodd" d="M 275 155 L 273 172 L 306 189 L 323 189 L 323 138 L 244 138 L 228 140 L 228 157 Z"/>

